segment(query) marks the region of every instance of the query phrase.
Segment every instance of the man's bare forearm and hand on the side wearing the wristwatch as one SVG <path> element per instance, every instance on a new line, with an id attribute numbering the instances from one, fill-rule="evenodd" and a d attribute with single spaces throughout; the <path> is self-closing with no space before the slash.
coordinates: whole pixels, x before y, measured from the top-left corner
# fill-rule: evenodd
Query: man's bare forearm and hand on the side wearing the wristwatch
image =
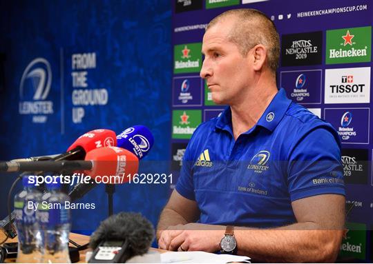
<path id="1" fill-rule="evenodd" d="M 299 199 L 291 205 L 298 221 L 293 225 L 271 230 L 235 227 L 238 254 L 269 262 L 334 261 L 344 233 L 345 197 L 321 194 Z M 222 228 L 184 225 L 184 231 L 173 234 L 169 247 L 164 248 L 178 250 L 181 246 L 184 250 L 215 252 L 219 249 Z M 207 234 L 208 241 L 204 239 Z"/>

